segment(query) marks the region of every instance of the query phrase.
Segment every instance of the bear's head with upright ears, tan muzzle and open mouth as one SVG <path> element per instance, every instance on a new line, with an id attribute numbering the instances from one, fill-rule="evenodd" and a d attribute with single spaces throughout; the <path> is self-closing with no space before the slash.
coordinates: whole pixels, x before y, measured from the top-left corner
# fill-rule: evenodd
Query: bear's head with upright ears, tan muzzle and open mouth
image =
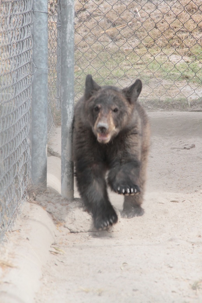
<path id="1" fill-rule="evenodd" d="M 108 143 L 130 125 L 134 119 L 135 105 L 142 89 L 141 80 L 119 89 L 100 87 L 91 75 L 87 75 L 84 94 L 85 118 L 98 142 Z"/>

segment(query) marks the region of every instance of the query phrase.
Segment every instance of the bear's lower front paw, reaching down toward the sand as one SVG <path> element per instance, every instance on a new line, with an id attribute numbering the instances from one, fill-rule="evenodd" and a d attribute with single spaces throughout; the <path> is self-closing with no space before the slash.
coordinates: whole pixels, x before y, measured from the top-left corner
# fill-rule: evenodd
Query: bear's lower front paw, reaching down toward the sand
<path id="1" fill-rule="evenodd" d="M 109 226 L 117 223 L 118 217 L 114 208 L 107 211 L 100 212 L 99 215 L 94 216 L 94 226 L 98 230 L 108 229 Z"/>

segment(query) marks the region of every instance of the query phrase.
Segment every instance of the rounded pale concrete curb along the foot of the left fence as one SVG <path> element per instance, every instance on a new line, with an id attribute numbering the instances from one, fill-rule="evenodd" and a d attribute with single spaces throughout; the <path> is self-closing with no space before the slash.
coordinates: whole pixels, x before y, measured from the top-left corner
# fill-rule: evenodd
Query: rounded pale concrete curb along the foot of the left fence
<path id="1" fill-rule="evenodd" d="M 0 302 L 32 303 L 41 286 L 42 266 L 50 254 L 56 227 L 43 208 L 26 203 L 15 229 L 6 245 L 7 262 L 13 268 L 6 268 L 1 278 Z"/>

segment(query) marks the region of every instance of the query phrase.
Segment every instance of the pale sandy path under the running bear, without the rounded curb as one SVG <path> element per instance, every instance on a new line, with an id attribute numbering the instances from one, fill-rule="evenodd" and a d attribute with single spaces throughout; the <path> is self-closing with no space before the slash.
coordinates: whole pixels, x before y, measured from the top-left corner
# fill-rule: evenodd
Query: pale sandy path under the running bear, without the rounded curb
<path id="1" fill-rule="evenodd" d="M 120 219 L 110 232 L 89 231 L 87 213 L 60 198 L 58 211 L 54 194 L 40 198 L 57 222 L 65 221 L 54 244 L 65 253 L 50 255 L 35 303 L 202 302 L 201 124 L 194 132 L 193 122 L 186 122 L 180 135 L 172 125 L 165 136 L 165 123 L 157 128 L 153 123 L 142 217 Z M 186 144 L 196 147 L 171 149 Z M 121 211 L 122 197 L 110 193 L 110 198 Z"/>

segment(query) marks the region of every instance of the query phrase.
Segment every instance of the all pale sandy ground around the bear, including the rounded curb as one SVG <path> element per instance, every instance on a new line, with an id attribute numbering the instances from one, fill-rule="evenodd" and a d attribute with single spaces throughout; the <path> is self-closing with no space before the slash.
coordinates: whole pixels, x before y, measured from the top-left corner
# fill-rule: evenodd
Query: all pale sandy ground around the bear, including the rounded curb
<path id="1" fill-rule="evenodd" d="M 111 230 L 95 231 L 81 200 L 68 202 L 56 192 L 60 159 L 48 157 L 51 188 L 25 205 L 8 233 L 1 303 L 202 302 L 202 113 L 150 117 L 145 214 L 119 216 Z M 57 128 L 50 142 L 59 154 L 60 133 Z M 123 197 L 110 192 L 110 198 L 119 214 Z M 34 261 L 26 265 L 27 259 Z"/>

